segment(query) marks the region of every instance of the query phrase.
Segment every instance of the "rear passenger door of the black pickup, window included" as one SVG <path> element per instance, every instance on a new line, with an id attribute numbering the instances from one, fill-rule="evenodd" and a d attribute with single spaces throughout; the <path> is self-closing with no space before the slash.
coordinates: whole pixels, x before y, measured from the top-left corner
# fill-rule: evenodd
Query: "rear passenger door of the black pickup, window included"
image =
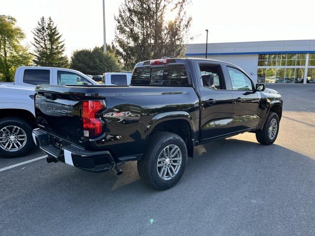
<path id="1" fill-rule="evenodd" d="M 220 62 L 195 60 L 194 67 L 201 95 L 201 137 L 203 141 L 233 132 L 233 96 L 226 89 Z"/>

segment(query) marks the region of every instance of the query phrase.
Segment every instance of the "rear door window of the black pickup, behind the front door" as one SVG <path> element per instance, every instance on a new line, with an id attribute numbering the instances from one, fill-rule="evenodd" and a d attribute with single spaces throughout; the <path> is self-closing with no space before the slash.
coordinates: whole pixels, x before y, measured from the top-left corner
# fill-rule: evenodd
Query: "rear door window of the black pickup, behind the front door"
<path id="1" fill-rule="evenodd" d="M 201 64 L 199 68 L 203 86 L 210 89 L 225 89 L 220 65 Z"/>

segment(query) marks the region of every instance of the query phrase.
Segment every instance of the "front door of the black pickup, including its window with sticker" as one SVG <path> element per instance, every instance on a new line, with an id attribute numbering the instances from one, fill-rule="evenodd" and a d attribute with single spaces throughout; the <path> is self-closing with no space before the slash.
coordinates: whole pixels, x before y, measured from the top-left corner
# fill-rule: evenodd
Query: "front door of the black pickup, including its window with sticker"
<path id="1" fill-rule="evenodd" d="M 261 116 L 260 93 L 255 91 L 252 80 L 239 68 L 227 65 L 226 71 L 233 96 L 235 128 L 243 131 L 256 127 Z"/>

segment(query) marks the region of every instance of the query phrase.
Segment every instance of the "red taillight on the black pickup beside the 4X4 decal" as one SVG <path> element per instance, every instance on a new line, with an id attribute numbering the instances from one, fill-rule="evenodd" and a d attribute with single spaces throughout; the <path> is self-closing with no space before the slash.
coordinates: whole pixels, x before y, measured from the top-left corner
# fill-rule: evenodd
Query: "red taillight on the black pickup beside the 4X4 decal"
<path id="1" fill-rule="evenodd" d="M 98 118 L 97 112 L 104 108 L 103 101 L 90 100 L 82 102 L 82 120 L 84 137 L 93 138 L 101 134 L 104 122 Z"/>

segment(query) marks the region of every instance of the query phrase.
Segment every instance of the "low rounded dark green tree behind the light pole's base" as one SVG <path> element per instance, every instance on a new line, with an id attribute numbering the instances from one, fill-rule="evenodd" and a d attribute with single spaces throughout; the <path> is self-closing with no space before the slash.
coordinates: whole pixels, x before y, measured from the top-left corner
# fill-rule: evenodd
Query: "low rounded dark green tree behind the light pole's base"
<path id="1" fill-rule="evenodd" d="M 70 68 L 90 75 L 101 75 L 104 72 L 118 72 L 121 70 L 115 55 L 110 50 L 104 54 L 103 47 L 74 51 L 71 56 Z"/>

